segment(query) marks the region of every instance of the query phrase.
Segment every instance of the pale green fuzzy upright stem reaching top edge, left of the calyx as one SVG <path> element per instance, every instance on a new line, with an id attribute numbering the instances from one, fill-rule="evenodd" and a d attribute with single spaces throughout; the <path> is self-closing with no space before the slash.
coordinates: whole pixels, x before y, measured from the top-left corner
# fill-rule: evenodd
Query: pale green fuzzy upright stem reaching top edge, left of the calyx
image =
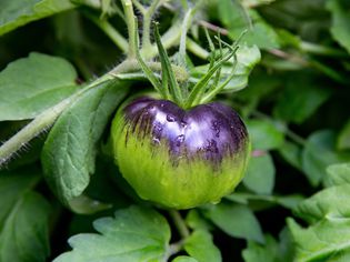
<path id="1" fill-rule="evenodd" d="M 136 58 L 136 42 L 134 42 L 134 31 L 137 30 L 137 26 L 134 22 L 134 14 L 131 0 L 122 0 L 122 7 L 126 13 L 126 22 L 128 26 L 128 36 L 129 36 L 129 49 L 128 49 L 128 58 L 133 59 Z"/>

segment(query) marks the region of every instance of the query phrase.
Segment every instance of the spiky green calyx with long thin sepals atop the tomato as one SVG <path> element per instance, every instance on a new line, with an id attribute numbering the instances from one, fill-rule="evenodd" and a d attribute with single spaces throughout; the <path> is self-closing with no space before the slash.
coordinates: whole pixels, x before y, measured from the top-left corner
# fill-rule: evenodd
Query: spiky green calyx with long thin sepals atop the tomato
<path id="1" fill-rule="evenodd" d="M 182 84 L 181 87 L 179 85 L 176 79 L 176 74 L 172 70 L 170 59 L 167 54 L 166 49 L 162 46 L 157 23 L 154 23 L 154 38 L 161 62 L 161 81 L 158 77 L 154 75 L 152 70 L 143 61 L 138 48 L 136 57 L 143 73 L 150 80 L 153 88 L 161 95 L 162 99 L 170 100 L 183 109 L 190 109 L 198 104 L 211 101 L 232 80 L 232 78 L 234 77 L 233 71 L 237 64 L 236 52 L 239 49 L 238 43 L 244 33 L 246 32 L 243 32 L 232 46 L 223 42 L 220 38 L 218 39 L 220 43 L 220 52 L 217 53 L 216 50 L 212 49 L 208 72 L 194 85 L 190 82 Z M 209 38 L 209 34 L 207 36 Z M 137 46 L 138 41 L 138 33 L 136 33 L 134 42 L 137 43 Z M 222 44 L 228 50 L 223 51 Z M 231 58 L 234 58 L 232 62 L 233 67 L 231 77 L 227 78 L 223 82 L 219 84 L 220 69 Z M 186 58 L 182 58 L 182 60 L 184 61 Z"/>

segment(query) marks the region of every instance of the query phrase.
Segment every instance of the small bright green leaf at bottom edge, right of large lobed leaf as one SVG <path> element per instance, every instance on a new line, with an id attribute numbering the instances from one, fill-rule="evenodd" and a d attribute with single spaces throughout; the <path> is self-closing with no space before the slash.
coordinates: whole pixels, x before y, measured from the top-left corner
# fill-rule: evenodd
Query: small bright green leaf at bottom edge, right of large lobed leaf
<path id="1" fill-rule="evenodd" d="M 184 250 L 199 262 L 222 261 L 220 250 L 206 230 L 196 230 L 184 242 Z"/>

